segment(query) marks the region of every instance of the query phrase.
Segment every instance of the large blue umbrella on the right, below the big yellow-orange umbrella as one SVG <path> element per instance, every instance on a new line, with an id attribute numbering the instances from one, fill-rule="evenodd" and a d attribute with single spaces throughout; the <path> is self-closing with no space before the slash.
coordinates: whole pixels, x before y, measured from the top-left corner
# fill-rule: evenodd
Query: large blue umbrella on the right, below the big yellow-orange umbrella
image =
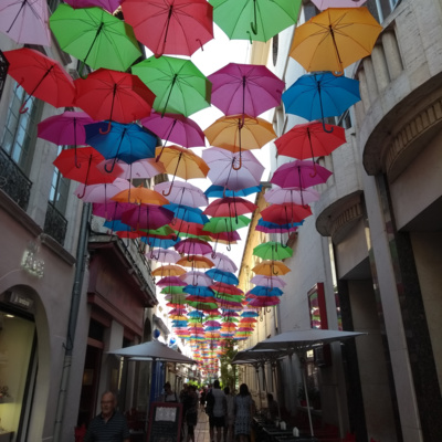
<path id="1" fill-rule="evenodd" d="M 345 76 L 335 76 L 330 72 L 301 76 L 283 93 L 283 103 L 287 114 L 298 115 L 308 120 L 341 115 L 351 105 L 359 102 L 359 82 Z"/>

